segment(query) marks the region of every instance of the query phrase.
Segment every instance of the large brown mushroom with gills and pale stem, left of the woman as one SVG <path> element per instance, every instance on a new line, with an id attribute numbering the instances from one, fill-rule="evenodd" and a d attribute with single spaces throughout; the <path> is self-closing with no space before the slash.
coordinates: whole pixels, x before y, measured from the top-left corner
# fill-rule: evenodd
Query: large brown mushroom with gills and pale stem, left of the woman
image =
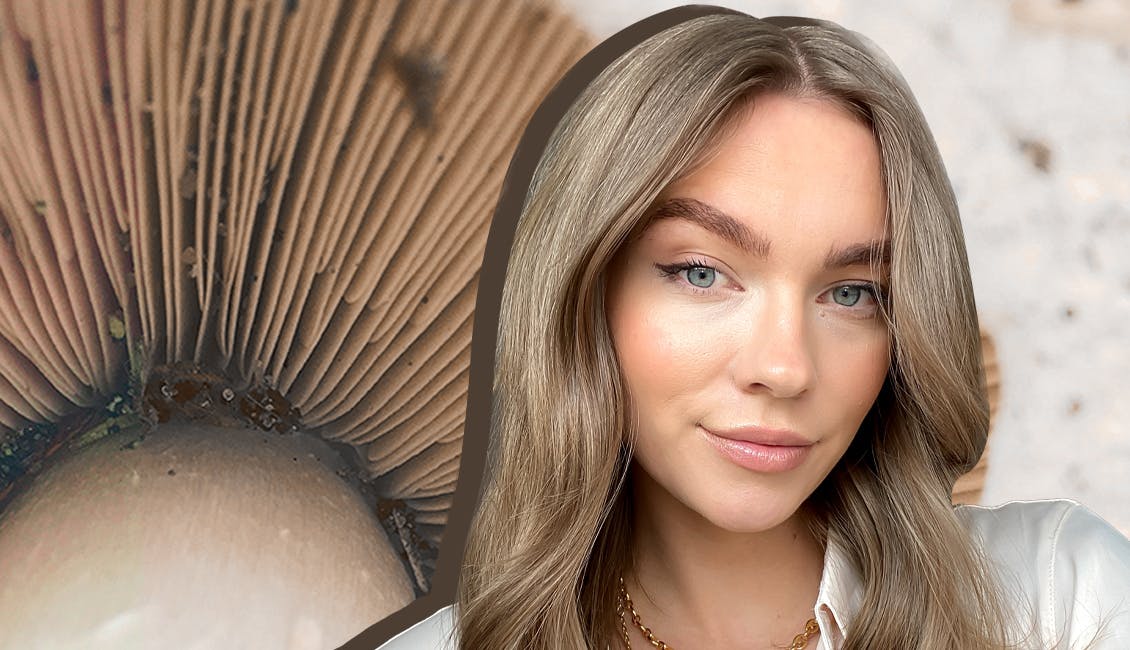
<path id="1" fill-rule="evenodd" d="M 6 640 L 322 648 L 428 590 L 489 216 L 590 44 L 532 0 L 0 0 Z"/>

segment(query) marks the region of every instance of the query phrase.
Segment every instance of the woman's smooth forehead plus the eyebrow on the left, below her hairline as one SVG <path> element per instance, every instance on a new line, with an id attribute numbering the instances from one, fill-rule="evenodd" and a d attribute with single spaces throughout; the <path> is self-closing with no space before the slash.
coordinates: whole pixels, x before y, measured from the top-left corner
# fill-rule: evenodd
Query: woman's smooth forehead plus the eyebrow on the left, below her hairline
<path id="1" fill-rule="evenodd" d="M 741 120 L 710 159 L 660 192 L 646 227 L 679 218 L 748 250 L 790 233 L 838 245 L 885 237 L 886 188 L 866 124 L 836 104 L 781 95 Z"/>

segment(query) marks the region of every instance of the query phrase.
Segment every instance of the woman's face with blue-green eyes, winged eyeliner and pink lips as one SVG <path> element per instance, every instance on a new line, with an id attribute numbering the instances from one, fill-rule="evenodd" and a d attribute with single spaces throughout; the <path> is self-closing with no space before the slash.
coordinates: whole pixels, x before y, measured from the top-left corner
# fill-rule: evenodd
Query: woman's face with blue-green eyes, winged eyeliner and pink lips
<path id="1" fill-rule="evenodd" d="M 797 512 L 887 374 L 885 207 L 870 129 L 781 95 L 664 190 L 608 278 L 641 489 L 732 531 Z"/>

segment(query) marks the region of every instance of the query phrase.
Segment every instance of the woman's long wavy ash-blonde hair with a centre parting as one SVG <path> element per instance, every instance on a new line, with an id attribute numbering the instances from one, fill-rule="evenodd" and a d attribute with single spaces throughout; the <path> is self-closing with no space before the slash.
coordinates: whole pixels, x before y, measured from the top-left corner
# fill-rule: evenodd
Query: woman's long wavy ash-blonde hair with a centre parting
<path id="1" fill-rule="evenodd" d="M 558 124 L 503 293 L 487 484 L 459 591 L 463 648 L 615 639 L 634 435 L 605 319 L 606 269 L 659 192 L 766 92 L 868 123 L 892 241 L 893 357 L 852 447 L 809 500 L 863 579 L 845 648 L 1000 648 L 1009 613 L 950 491 L 985 444 L 977 318 L 953 190 L 898 72 L 834 24 L 698 17 L 606 68 Z"/>

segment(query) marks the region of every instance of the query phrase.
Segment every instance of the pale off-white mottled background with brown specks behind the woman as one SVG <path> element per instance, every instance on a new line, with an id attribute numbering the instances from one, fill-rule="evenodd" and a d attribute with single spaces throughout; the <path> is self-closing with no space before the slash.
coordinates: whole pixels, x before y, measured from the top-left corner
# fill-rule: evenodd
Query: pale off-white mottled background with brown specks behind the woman
<path id="1" fill-rule="evenodd" d="M 598 38 L 667 0 L 560 0 Z M 860 32 L 962 209 L 1001 401 L 981 503 L 1067 497 L 1130 535 L 1130 0 L 719 1 Z"/>

